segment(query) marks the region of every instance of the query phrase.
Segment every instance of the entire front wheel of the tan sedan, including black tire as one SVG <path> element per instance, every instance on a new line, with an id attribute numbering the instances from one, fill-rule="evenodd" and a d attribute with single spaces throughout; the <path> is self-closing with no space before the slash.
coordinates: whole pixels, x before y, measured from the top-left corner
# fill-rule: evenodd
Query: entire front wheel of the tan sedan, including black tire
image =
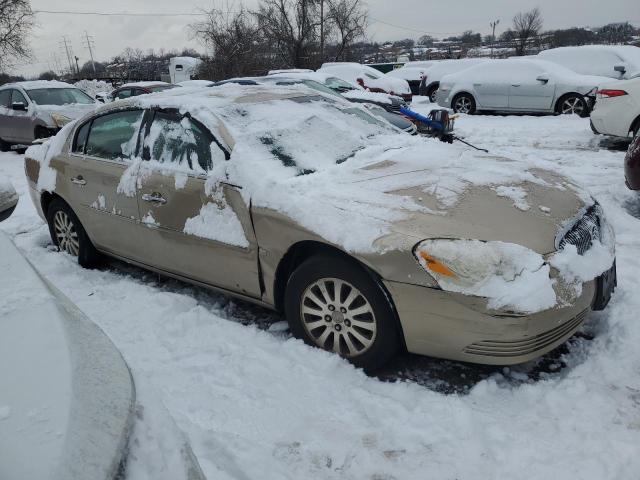
<path id="1" fill-rule="evenodd" d="M 368 372 L 400 347 L 395 309 L 380 282 L 337 255 L 318 255 L 296 268 L 287 282 L 285 314 L 296 338 Z"/>

